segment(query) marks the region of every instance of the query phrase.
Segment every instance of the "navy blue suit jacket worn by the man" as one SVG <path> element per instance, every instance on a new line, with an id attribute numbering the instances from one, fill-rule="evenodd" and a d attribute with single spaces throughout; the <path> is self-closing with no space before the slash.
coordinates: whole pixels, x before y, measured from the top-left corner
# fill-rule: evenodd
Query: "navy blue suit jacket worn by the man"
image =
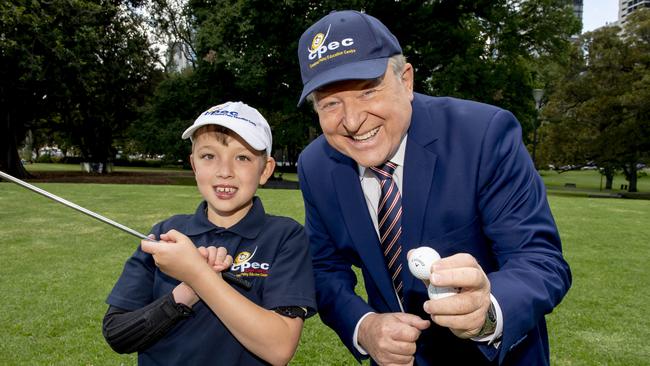
<path id="1" fill-rule="evenodd" d="M 430 246 L 442 257 L 474 256 L 504 320 L 498 349 L 432 324 L 417 342 L 416 364 L 548 364 L 544 315 L 568 291 L 571 273 L 519 122 L 503 109 L 454 98 L 416 93 L 412 106 L 401 192 L 403 249 Z M 302 152 L 298 173 L 320 316 L 360 359 L 352 344 L 359 318 L 400 307 L 357 164 L 320 136 Z M 355 293 L 351 266 L 361 268 L 367 301 Z M 402 273 L 404 310 L 429 319 L 422 309 L 426 288 Z"/>

